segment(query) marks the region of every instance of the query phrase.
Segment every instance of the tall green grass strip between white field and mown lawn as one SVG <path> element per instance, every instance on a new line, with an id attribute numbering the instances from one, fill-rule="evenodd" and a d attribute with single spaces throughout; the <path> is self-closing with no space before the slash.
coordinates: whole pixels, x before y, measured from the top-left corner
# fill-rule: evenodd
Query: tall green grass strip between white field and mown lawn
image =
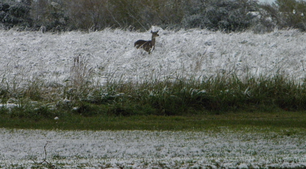
<path id="1" fill-rule="evenodd" d="M 75 70 L 73 72 L 77 73 Z M 89 78 L 87 75 L 80 78 Z M 11 118 L 39 120 L 64 114 L 85 117 L 175 116 L 205 112 L 267 112 L 275 108 L 287 111 L 306 109 L 305 82 L 297 83 L 280 74 L 243 79 L 235 75 L 219 75 L 197 80 L 108 82 L 96 86 L 87 85 L 85 81 L 80 84 L 77 81 L 81 80 L 74 79 L 68 86 L 58 86 L 58 98 L 46 97 L 46 93 L 41 96 L 43 92 L 39 89 L 43 88 L 37 88 L 37 92 L 32 94 L 22 92 L 17 99 L 8 95 L 9 92 L 4 92 L 1 96 L 0 112 Z M 33 95 L 34 93 L 36 95 Z M 42 99 L 33 101 L 31 98 Z M 8 102 L 12 100 L 15 106 L 10 104 L 11 107 L 8 108 Z"/>

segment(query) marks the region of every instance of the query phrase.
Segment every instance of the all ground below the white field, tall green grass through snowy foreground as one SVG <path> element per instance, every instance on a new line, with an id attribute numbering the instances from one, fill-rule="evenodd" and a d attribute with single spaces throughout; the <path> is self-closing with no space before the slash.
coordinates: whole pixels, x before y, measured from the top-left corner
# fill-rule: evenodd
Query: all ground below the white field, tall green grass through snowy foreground
<path id="1" fill-rule="evenodd" d="M 2 168 L 306 167 L 305 88 L 287 78 L 63 87 L 55 97 L 37 86 L 2 92 Z"/>

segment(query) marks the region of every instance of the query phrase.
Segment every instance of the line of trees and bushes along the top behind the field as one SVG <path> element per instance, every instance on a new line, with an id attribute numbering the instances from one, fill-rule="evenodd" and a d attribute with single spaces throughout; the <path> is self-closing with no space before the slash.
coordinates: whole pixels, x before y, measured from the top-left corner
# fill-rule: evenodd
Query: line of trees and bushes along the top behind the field
<path id="1" fill-rule="evenodd" d="M 97 31 L 201 28 L 306 31 L 306 1 L 276 0 L 0 0 L 0 28 Z"/>

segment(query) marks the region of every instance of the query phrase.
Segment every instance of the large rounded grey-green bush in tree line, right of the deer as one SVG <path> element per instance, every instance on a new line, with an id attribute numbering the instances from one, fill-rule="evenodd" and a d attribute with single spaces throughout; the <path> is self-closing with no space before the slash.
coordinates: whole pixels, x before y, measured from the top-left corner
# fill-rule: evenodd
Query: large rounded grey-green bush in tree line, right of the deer
<path id="1" fill-rule="evenodd" d="M 258 11 L 254 0 L 202 0 L 189 6 L 184 24 L 187 28 L 241 31 L 251 26 L 249 12 Z"/>

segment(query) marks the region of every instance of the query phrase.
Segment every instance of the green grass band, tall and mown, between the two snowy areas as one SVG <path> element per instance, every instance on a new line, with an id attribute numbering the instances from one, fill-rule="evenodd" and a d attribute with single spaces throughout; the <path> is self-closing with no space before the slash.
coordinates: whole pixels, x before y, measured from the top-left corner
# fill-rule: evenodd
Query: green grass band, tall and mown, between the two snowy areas
<path id="1" fill-rule="evenodd" d="M 51 89 L 37 83 L 14 93 L 17 97 L 2 88 L 0 127 L 197 131 L 223 126 L 306 128 L 305 83 L 281 75 Z"/>

